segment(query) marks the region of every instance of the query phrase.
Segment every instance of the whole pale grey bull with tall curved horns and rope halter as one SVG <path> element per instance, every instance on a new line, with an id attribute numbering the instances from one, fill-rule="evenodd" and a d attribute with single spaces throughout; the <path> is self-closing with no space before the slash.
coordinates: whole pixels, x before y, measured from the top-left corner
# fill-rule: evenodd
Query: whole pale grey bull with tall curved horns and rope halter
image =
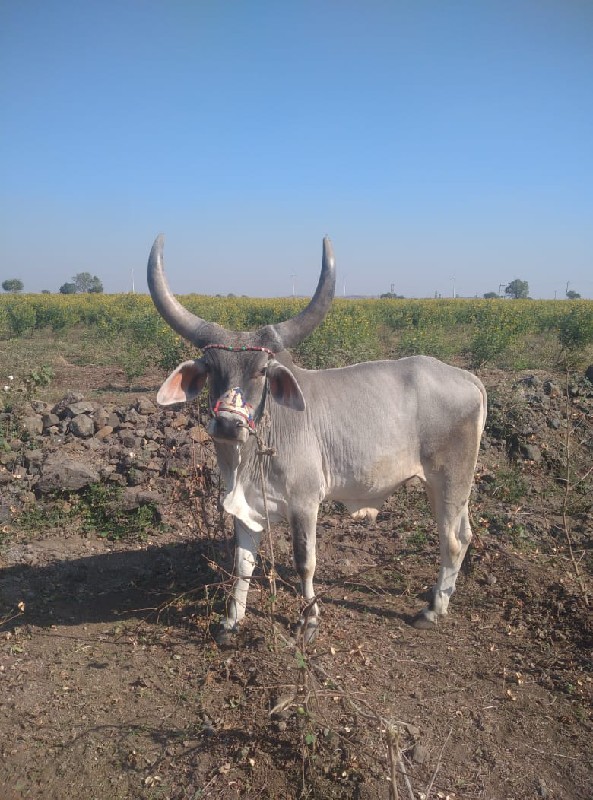
<path id="1" fill-rule="evenodd" d="M 313 588 L 319 504 L 336 500 L 353 514 L 376 516 L 396 487 L 413 477 L 426 487 L 441 556 L 430 604 L 414 624 L 433 627 L 447 613 L 472 536 L 468 501 L 486 420 L 486 391 L 478 378 L 426 356 L 317 371 L 297 367 L 286 348 L 323 321 L 334 295 L 327 238 L 309 305 L 256 331 L 228 331 L 185 309 L 164 275 L 162 237 L 150 253 L 148 285 L 167 323 L 203 353 L 177 367 L 157 401 L 189 401 L 208 383 L 208 432 L 226 487 L 224 508 L 235 518 L 234 582 L 222 638 L 245 615 L 265 525 L 264 490 L 270 522 L 287 519 L 290 525 L 306 602 L 299 625 L 309 640 L 319 617 Z M 263 456 L 264 486 L 260 445 L 274 453 Z"/>

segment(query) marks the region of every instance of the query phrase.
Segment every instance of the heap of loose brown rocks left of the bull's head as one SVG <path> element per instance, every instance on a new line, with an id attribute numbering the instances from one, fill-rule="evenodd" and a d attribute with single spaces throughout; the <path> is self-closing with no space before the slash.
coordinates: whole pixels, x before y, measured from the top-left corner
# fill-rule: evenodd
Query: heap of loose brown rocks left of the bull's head
<path id="1" fill-rule="evenodd" d="M 33 402 L 18 420 L 4 417 L 13 436 L 0 451 L 0 521 L 96 484 L 125 490 L 123 510 L 162 506 L 171 497 L 171 475 L 188 476 L 205 461 L 213 466 L 197 407 L 163 410 L 146 397 L 102 404 L 77 393 L 53 406 Z"/>

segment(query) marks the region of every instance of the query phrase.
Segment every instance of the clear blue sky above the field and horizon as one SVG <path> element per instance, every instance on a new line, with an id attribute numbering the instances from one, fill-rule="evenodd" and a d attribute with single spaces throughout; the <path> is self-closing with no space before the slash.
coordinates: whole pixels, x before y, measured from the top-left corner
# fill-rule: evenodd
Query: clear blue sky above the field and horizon
<path id="1" fill-rule="evenodd" d="M 593 297 L 591 0 L 1 0 L 0 280 Z"/>

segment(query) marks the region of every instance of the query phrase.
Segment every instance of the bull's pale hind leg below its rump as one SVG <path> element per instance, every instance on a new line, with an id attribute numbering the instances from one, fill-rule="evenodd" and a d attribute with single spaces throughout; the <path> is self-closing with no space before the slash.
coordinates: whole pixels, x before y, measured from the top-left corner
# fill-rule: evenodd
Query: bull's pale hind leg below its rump
<path id="1" fill-rule="evenodd" d="M 447 479 L 440 486 L 439 483 L 427 485 L 427 492 L 437 521 L 441 568 L 430 604 L 414 620 L 417 628 L 434 628 L 438 618 L 447 613 L 457 575 L 472 538 L 467 496 L 460 500 L 455 497 L 457 493 L 452 492 L 453 497 L 450 497 L 448 495 L 451 492 L 448 493 L 443 487 L 443 484 L 447 485 Z"/>

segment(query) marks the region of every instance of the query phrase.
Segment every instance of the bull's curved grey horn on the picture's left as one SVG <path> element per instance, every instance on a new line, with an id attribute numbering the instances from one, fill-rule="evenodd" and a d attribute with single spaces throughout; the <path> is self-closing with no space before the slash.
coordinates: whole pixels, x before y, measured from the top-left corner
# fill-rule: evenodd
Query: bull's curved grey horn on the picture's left
<path id="1" fill-rule="evenodd" d="M 154 240 L 146 275 L 148 288 L 159 314 L 174 331 L 197 347 L 204 347 L 207 344 L 228 344 L 231 334 L 225 328 L 192 314 L 181 305 L 169 289 L 163 268 L 163 243 L 162 234 Z"/>

